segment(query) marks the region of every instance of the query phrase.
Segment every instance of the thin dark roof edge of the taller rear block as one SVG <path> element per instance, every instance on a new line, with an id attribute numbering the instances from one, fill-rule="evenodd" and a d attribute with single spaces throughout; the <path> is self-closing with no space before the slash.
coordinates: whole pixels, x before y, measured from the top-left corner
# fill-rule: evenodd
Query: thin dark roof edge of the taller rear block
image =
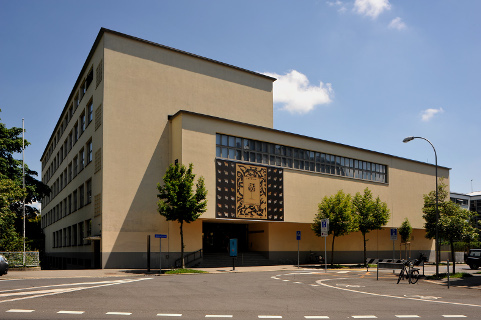
<path id="1" fill-rule="evenodd" d="M 187 56 L 190 56 L 190 57 L 194 57 L 194 58 L 197 58 L 197 59 L 209 61 L 209 62 L 219 64 L 219 65 L 222 65 L 222 66 L 225 66 L 225 67 L 228 67 L 228 68 L 236 69 L 238 71 L 243 71 L 243 72 L 247 72 L 247 73 L 259 76 L 259 77 L 263 77 L 263 78 L 269 79 L 271 81 L 277 80 L 276 78 L 266 76 L 266 75 L 258 73 L 258 72 L 254 72 L 254 71 L 250 71 L 250 70 L 247 70 L 247 69 L 244 69 L 244 68 L 236 67 L 236 66 L 231 65 L 231 64 L 220 62 L 220 61 L 217 61 L 217 60 L 214 60 L 214 59 L 209 59 L 209 58 L 206 58 L 206 57 L 203 57 L 203 56 L 200 56 L 200 55 L 196 55 L 196 54 L 193 54 L 193 53 L 190 53 L 190 52 L 187 52 L 187 51 L 182 51 L 182 50 L 175 49 L 175 48 L 172 48 L 172 47 L 164 46 L 164 45 L 152 42 L 152 41 L 148 41 L 148 40 L 144 40 L 144 39 L 137 38 L 137 37 L 134 37 L 134 36 L 130 36 L 128 34 L 121 33 L 121 32 L 118 32 L 118 31 L 114 31 L 114 30 L 110 30 L 110 29 L 106 29 L 106 28 L 100 28 L 100 31 L 97 35 L 97 38 L 95 39 L 94 44 L 92 45 L 92 48 L 90 49 L 90 52 L 87 56 L 87 59 L 85 59 L 84 65 L 83 65 L 82 69 L 80 70 L 80 73 L 77 77 L 77 81 L 75 81 L 75 84 L 72 88 L 72 91 L 70 92 L 70 95 L 67 98 L 67 101 L 65 102 L 65 106 L 62 110 L 62 113 L 60 114 L 60 116 L 58 118 L 57 124 L 55 125 L 55 128 L 53 129 L 52 134 L 50 135 L 50 139 L 48 140 L 48 143 L 45 146 L 45 149 L 42 153 L 42 156 L 40 157 L 40 161 L 42 161 L 42 159 L 45 157 L 45 154 L 47 153 L 48 147 L 49 147 L 49 145 L 50 145 L 50 143 L 51 143 L 51 141 L 54 137 L 54 134 L 57 131 L 57 128 L 61 124 L 61 119 L 63 118 L 64 113 L 68 110 L 69 102 L 72 100 L 72 97 L 76 94 L 77 88 L 78 88 L 80 82 L 83 79 L 82 76 L 83 76 L 84 72 L 86 71 L 86 69 L 89 67 L 89 63 L 90 63 L 90 60 L 91 60 L 91 58 L 92 58 L 92 56 L 95 52 L 95 49 L 97 48 L 100 40 L 102 39 L 102 36 L 105 33 L 110 33 L 110 34 L 117 35 L 117 36 L 120 36 L 120 37 L 123 37 L 123 38 L 139 41 L 139 42 L 142 42 L 142 43 L 145 43 L 145 44 L 149 44 L 149 45 L 156 46 L 156 47 L 159 47 L 159 48 L 163 48 L 163 49 L 166 49 L 166 50 L 174 51 L 174 52 L 184 54 L 184 55 L 187 55 Z"/>

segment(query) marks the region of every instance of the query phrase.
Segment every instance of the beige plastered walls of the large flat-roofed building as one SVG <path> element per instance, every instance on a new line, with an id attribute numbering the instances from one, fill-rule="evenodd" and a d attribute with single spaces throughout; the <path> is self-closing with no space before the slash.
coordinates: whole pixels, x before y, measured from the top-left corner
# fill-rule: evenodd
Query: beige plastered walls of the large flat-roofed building
<path id="1" fill-rule="evenodd" d="M 387 202 L 392 213 L 386 229 L 369 235 L 370 252 L 392 250 L 392 242 L 386 241 L 388 228 L 398 227 L 405 217 L 416 228 L 411 249 L 431 251 L 432 242 L 423 236 L 421 208 L 422 194 L 434 186 L 434 167 L 274 130 L 273 81 L 102 29 L 41 159 L 43 181 L 53 190 L 42 209 L 51 265 L 145 268 L 147 236 L 166 234 L 162 261 L 163 266 L 172 266 L 180 251 L 179 229 L 177 223 L 166 222 L 158 214 L 156 185 L 176 160 L 193 163 L 194 172 L 205 177 L 208 190 L 207 212 L 185 225 L 187 252 L 219 250 L 221 235 L 241 232 L 240 249 L 263 253 L 272 262 L 281 261 L 290 259 L 294 252 L 297 255 L 297 230 L 302 231 L 300 250 L 304 255 L 323 251 L 323 241 L 310 230 L 317 204 L 340 189 L 354 194 L 366 187 Z M 382 181 L 373 181 L 349 176 L 348 166 L 339 171 L 340 165 L 336 169 L 333 165 L 334 173 L 326 174 L 316 171 L 315 161 L 314 170 L 295 168 L 294 164 L 289 167 L 287 162 L 266 163 L 269 155 L 262 152 L 257 156 L 264 156 L 264 162 L 223 157 L 216 142 L 221 136 L 307 150 L 313 157 L 325 153 L 342 161 L 355 159 L 356 164 L 377 164 L 386 171 L 380 174 Z M 79 170 L 82 154 L 85 161 Z M 294 157 L 286 159 L 279 161 L 296 161 Z M 273 209 L 279 211 L 266 214 L 271 217 L 266 220 L 222 218 L 216 191 L 216 165 L 220 161 L 281 170 L 282 205 Z M 449 182 L 447 168 L 440 168 L 440 175 Z M 271 206 L 266 205 L 266 212 Z M 362 250 L 359 239 L 359 234 L 336 239 L 340 260 L 348 261 L 353 253 L 358 259 Z M 151 243 L 152 252 L 157 253 L 156 258 L 152 255 L 154 266 L 160 248 L 159 242 Z"/>

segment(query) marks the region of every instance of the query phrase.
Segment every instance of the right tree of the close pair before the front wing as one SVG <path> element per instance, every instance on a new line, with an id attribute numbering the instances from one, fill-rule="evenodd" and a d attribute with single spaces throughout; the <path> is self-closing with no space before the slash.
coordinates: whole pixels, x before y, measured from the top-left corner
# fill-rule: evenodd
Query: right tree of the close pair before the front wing
<path id="1" fill-rule="evenodd" d="M 380 230 L 389 220 L 389 209 L 387 204 L 382 202 L 379 197 L 376 200 L 372 197 L 369 188 L 364 189 L 364 194 L 356 193 L 352 200 L 357 229 L 362 233 L 364 244 L 364 264 L 366 264 L 366 234 L 372 230 Z"/>

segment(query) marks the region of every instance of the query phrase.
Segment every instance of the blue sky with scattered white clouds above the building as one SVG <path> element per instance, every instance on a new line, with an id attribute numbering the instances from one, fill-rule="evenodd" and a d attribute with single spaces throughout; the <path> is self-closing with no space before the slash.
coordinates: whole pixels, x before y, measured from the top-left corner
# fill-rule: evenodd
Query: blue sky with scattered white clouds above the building
<path id="1" fill-rule="evenodd" d="M 101 27 L 275 75 L 274 127 L 481 190 L 481 1 L 0 0 L 0 118 L 40 157 Z"/>

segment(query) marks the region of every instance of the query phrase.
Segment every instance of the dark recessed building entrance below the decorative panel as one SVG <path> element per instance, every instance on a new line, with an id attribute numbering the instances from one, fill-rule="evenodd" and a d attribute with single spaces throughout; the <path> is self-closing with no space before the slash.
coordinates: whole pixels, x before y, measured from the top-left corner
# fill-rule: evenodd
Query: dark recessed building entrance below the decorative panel
<path id="1" fill-rule="evenodd" d="M 247 224 L 209 223 L 202 224 L 202 247 L 204 252 L 228 253 L 229 239 L 236 238 L 238 251 L 248 251 Z"/>

